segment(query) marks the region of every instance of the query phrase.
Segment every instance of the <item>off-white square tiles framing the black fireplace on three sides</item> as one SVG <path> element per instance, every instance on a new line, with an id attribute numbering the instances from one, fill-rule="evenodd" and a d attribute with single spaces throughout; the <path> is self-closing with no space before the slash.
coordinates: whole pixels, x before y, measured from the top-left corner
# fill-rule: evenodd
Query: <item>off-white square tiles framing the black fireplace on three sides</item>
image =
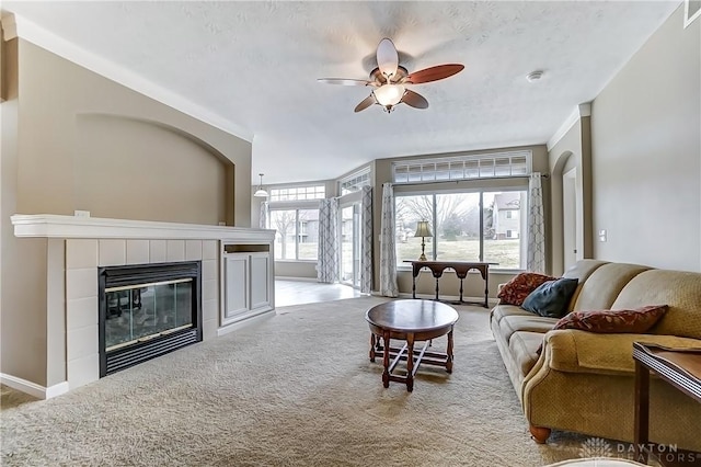
<path id="1" fill-rule="evenodd" d="M 66 240 L 66 363 L 71 389 L 100 378 L 97 267 L 202 260 L 203 340 L 217 335 L 217 240 Z"/>

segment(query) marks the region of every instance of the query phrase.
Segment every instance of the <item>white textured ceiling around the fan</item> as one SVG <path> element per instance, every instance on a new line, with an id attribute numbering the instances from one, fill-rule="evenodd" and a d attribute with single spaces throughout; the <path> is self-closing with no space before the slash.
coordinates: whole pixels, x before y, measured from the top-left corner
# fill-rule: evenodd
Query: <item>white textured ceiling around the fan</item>
<path id="1" fill-rule="evenodd" d="M 12 2 L 3 9 L 253 134 L 265 183 L 333 179 L 377 158 L 544 144 L 679 1 Z M 679 25 L 681 27 L 681 25 Z M 377 105 L 317 78 L 365 79 L 382 37 L 430 106 Z M 542 69 L 543 79 L 526 80 Z"/>

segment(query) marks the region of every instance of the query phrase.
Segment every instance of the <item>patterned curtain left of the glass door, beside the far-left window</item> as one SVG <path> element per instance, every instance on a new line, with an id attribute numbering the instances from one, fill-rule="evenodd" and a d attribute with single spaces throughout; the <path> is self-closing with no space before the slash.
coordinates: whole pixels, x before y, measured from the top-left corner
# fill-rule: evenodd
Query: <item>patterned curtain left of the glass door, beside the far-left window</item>
<path id="1" fill-rule="evenodd" d="M 338 200 L 319 202 L 319 260 L 317 278 L 333 284 L 338 278 Z"/>

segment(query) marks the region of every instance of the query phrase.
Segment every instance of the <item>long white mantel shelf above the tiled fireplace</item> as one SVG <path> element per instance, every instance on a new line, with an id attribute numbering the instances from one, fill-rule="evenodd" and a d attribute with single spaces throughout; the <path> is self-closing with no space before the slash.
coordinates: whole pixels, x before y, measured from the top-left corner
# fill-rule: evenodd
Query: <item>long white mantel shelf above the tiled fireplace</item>
<path id="1" fill-rule="evenodd" d="M 118 239 L 202 239 L 232 240 L 243 243 L 271 242 L 275 230 L 202 224 L 151 220 L 107 219 L 55 214 L 15 214 L 11 216 L 15 237 L 118 238 Z"/>

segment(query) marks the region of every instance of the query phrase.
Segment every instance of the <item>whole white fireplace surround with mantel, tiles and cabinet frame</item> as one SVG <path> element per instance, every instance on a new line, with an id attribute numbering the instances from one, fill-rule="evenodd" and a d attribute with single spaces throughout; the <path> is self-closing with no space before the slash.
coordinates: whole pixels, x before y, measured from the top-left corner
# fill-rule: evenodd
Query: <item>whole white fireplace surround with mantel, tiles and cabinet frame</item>
<path id="1" fill-rule="evenodd" d="M 59 215 L 15 215 L 12 223 L 16 237 L 48 240 L 47 314 L 65 316 L 65 334 L 48 348 L 65 353 L 60 360 L 66 380 L 45 388 L 45 398 L 100 378 L 99 267 L 202 261 L 203 341 L 207 341 L 242 326 L 221 326 L 222 246 L 267 243 L 272 252 L 275 235 L 263 229 Z"/>

